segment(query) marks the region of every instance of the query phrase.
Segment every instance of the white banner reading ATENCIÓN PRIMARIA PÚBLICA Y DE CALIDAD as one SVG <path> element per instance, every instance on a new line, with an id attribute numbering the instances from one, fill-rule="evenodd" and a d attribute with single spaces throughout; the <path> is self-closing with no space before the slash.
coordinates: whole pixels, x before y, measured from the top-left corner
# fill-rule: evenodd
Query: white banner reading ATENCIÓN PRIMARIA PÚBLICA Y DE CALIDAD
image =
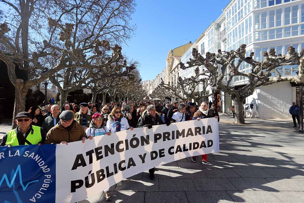
<path id="1" fill-rule="evenodd" d="M 134 128 L 57 145 L 56 202 L 77 202 L 123 178 L 179 159 L 219 152 L 216 118 Z"/>

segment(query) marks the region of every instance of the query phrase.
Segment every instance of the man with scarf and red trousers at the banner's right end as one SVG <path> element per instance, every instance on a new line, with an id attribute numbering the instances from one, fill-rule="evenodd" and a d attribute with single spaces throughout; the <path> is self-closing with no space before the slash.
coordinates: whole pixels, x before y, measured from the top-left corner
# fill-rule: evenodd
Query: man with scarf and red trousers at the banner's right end
<path id="1" fill-rule="evenodd" d="M 199 110 L 197 110 L 194 115 L 193 115 L 193 118 L 192 120 L 201 120 L 203 118 L 211 118 L 211 113 L 208 109 L 208 103 L 207 102 L 202 102 L 201 106 L 199 107 Z M 218 116 L 214 116 L 215 118 L 218 118 Z M 193 162 L 196 162 L 196 157 L 195 156 L 192 156 L 192 161 Z M 207 160 L 207 154 L 203 154 L 202 155 L 202 163 L 203 164 L 207 164 L 209 166 L 212 165 L 212 163 L 208 162 Z"/>

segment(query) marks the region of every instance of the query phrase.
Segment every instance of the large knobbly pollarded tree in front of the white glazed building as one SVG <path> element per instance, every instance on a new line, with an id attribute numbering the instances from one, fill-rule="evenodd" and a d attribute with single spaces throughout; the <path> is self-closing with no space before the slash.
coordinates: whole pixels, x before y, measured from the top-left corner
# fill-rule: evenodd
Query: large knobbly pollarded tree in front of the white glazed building
<path id="1" fill-rule="evenodd" d="M 193 48 L 192 56 L 194 59 L 190 59 L 187 62 L 188 67 L 185 67 L 183 63 L 180 63 L 180 67 L 185 70 L 186 68 L 204 65 L 202 73 L 209 76 L 210 85 L 222 89 L 233 100 L 236 114 L 235 124 L 244 124 L 243 101 L 247 96 L 254 93 L 256 87 L 287 80 L 297 83 L 304 82 L 303 53 L 304 50 L 299 55 L 290 46 L 286 55 L 282 56 L 279 54 L 277 56 L 275 55 L 275 50 L 271 49 L 269 54 L 266 51 L 263 52 L 264 59 L 259 62 L 254 60 L 254 52 L 251 52 L 247 57 L 245 56 L 246 44 L 241 44 L 237 51 L 231 50 L 227 52 L 218 50 L 218 54 L 207 52 L 206 58 L 202 57 Z M 235 63 L 237 59 L 238 61 Z M 239 67 L 243 61 L 252 67 L 251 72 L 239 72 Z M 276 69 L 282 65 L 299 65 L 299 75 L 297 77 L 282 77 Z M 271 77 L 271 72 L 273 71 L 277 72 L 278 75 Z M 247 85 L 240 89 L 235 89 L 230 84 L 234 76 L 246 77 L 248 79 Z"/>

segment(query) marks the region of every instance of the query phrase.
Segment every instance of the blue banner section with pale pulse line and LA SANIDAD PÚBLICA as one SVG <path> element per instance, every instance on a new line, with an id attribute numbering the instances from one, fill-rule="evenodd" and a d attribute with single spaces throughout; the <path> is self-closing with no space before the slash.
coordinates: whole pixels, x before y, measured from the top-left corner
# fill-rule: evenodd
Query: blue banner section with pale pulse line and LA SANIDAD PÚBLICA
<path id="1" fill-rule="evenodd" d="M 0 147 L 0 203 L 54 203 L 56 145 Z"/>

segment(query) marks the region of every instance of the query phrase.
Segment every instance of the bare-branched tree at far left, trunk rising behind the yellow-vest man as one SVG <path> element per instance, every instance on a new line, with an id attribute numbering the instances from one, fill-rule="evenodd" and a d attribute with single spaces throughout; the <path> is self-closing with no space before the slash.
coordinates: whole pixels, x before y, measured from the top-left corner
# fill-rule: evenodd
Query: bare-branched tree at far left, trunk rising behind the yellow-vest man
<path id="1" fill-rule="evenodd" d="M 118 63 L 121 47 L 114 44 L 130 39 L 134 30 L 129 24 L 135 6 L 132 0 L 0 3 L 11 8 L 5 9 L 5 23 L 0 26 L 0 60 L 7 65 L 16 89 L 13 117 L 25 110 L 28 89 L 54 73 L 64 68 L 71 72 L 76 68 L 102 70 Z M 96 63 L 103 50 L 112 54 Z M 18 69 L 29 79 L 18 79 Z"/>

